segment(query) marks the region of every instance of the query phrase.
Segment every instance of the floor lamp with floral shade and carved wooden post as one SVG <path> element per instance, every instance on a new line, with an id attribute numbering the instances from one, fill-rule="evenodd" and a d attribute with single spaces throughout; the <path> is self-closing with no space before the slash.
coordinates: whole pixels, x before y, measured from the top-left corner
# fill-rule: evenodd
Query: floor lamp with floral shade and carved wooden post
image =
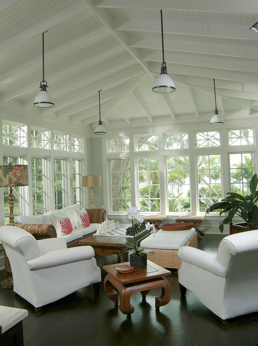
<path id="1" fill-rule="evenodd" d="M 9 192 L 9 224 L 14 225 L 14 215 L 13 215 L 13 206 L 14 206 L 14 197 L 12 192 L 13 186 L 27 186 L 28 182 L 28 165 L 0 165 L 0 188 L 10 188 Z M 13 281 L 11 274 L 11 266 L 4 252 L 4 268 L 6 278 L 1 281 L 1 286 L 3 288 L 12 288 Z"/>

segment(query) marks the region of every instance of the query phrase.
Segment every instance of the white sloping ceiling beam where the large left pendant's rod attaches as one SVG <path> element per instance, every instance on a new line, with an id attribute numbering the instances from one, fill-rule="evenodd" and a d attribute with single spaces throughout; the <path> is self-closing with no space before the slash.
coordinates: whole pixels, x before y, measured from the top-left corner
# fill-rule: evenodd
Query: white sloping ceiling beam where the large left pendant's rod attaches
<path id="1" fill-rule="evenodd" d="M 53 27 L 54 25 L 66 20 L 67 18 L 73 17 L 83 10 L 88 8 L 87 3 L 83 0 L 79 0 L 66 6 L 64 9 L 47 16 L 41 21 L 33 24 L 25 30 L 19 31 L 19 33 L 11 36 L 10 38 L 0 43 L 0 52 L 4 54 L 10 49 L 20 45 L 22 42 L 34 37 L 35 35 L 42 33 L 43 31 Z"/>

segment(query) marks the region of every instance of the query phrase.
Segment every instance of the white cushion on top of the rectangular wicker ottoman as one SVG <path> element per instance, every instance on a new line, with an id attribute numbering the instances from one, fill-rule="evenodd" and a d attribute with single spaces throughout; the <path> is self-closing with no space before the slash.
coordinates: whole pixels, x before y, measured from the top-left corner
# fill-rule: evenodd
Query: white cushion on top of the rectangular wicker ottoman
<path id="1" fill-rule="evenodd" d="M 155 237 L 153 235 L 148 236 L 141 241 L 141 247 L 147 247 L 151 249 L 171 249 L 178 250 L 187 243 L 188 236 L 186 234 L 167 234 L 170 232 L 164 231 L 164 233 L 157 232 Z M 172 232 L 174 233 L 174 232 Z"/>

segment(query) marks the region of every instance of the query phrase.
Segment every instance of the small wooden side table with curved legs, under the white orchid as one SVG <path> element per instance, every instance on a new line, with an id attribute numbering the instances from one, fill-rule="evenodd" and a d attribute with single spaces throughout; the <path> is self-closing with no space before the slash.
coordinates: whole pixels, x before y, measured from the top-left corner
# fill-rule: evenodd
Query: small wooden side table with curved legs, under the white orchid
<path id="1" fill-rule="evenodd" d="M 129 264 L 124 263 L 124 264 Z M 146 295 L 153 288 L 161 287 L 162 294 L 155 298 L 155 308 L 166 305 L 170 301 L 171 287 L 169 282 L 163 277 L 171 275 L 159 265 L 148 261 L 147 267 L 142 269 L 134 268 L 131 273 L 121 274 L 116 271 L 116 267 L 121 264 L 104 265 L 103 269 L 108 273 L 104 280 L 104 291 L 107 297 L 118 305 L 118 293 L 113 291 L 114 285 L 120 295 L 119 310 L 125 315 L 130 316 L 135 308 L 130 304 L 130 297 L 135 292 L 141 292 L 142 299 L 146 299 Z"/>

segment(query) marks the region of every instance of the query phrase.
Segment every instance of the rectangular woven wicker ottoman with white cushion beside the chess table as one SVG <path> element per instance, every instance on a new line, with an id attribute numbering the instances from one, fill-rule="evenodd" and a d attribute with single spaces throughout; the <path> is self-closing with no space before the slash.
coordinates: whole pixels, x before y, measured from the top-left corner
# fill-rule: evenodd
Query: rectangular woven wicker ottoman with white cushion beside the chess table
<path id="1" fill-rule="evenodd" d="M 179 241 L 177 241 L 177 239 L 173 240 L 177 237 L 177 235 L 181 235 L 181 234 L 185 235 L 185 243 L 184 243 L 184 241 L 181 242 L 181 239 L 183 239 L 183 237 L 181 237 L 179 239 Z M 168 235 L 169 235 L 169 236 L 171 236 L 171 244 L 177 242 L 177 246 L 175 246 L 177 248 L 174 248 L 174 249 L 173 248 L 155 248 L 155 247 L 159 246 L 156 243 L 155 238 L 157 239 L 157 236 L 158 236 L 159 237 L 159 243 L 160 243 L 160 238 L 162 237 L 162 235 L 165 236 L 164 242 L 165 242 L 166 247 L 168 247 L 168 240 L 167 239 L 168 239 Z M 196 233 L 195 229 L 192 228 L 191 230 L 171 231 L 171 232 L 160 230 L 156 233 L 155 237 L 153 237 L 153 235 L 150 235 L 147 238 L 145 238 L 144 240 L 142 240 L 140 246 L 146 247 L 149 250 L 154 251 L 154 254 L 147 254 L 147 258 L 149 261 L 154 262 L 154 263 L 156 263 L 156 264 L 158 264 L 164 268 L 179 269 L 181 267 L 181 264 L 182 264 L 181 259 L 177 255 L 178 249 L 181 247 L 179 244 L 180 242 L 181 242 L 181 246 L 197 247 L 197 233 Z M 184 244 L 182 245 L 182 243 L 184 243 Z M 152 245 L 153 247 L 151 247 L 151 244 L 153 244 Z"/>

